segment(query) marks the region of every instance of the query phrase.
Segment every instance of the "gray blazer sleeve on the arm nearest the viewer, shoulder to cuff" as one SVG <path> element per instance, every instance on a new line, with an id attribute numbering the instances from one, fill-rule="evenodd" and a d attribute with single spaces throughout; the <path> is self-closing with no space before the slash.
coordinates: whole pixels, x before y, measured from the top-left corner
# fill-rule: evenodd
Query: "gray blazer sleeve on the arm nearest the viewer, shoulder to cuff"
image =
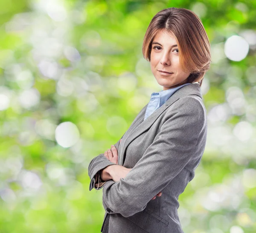
<path id="1" fill-rule="evenodd" d="M 186 96 L 166 113 L 166 121 L 153 143 L 120 181 L 106 181 L 103 206 L 107 213 L 129 217 L 143 211 L 148 202 L 163 190 L 186 166 L 206 136 L 206 110 L 197 98 Z"/>

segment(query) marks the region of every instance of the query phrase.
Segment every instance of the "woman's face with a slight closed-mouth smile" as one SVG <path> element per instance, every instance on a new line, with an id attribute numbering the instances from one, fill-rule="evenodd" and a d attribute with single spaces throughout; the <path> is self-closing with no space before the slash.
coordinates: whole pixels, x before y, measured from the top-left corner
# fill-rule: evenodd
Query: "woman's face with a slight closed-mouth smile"
<path id="1" fill-rule="evenodd" d="M 151 44 L 150 67 L 163 90 L 174 88 L 186 83 L 190 73 L 180 68 L 177 41 L 172 34 L 160 30 Z M 170 73 L 162 73 L 160 70 Z"/>

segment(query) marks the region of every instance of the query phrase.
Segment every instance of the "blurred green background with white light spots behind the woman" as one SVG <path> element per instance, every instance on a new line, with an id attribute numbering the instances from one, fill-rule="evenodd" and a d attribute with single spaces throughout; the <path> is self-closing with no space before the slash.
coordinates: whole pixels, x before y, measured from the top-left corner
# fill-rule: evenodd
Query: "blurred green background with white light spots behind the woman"
<path id="1" fill-rule="evenodd" d="M 100 232 L 88 164 L 162 90 L 142 43 L 168 7 L 198 14 L 212 49 L 183 230 L 256 232 L 256 1 L 0 0 L 0 233 Z"/>

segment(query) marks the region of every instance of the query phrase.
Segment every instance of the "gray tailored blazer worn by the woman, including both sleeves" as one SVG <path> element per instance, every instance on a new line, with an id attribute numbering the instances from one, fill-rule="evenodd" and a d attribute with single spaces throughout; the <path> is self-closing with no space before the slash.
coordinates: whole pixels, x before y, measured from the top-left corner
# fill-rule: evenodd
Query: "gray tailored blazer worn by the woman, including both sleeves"
<path id="1" fill-rule="evenodd" d="M 201 161 L 207 138 L 207 114 L 198 83 L 178 89 L 144 120 L 147 105 L 115 144 L 118 164 L 132 170 L 103 187 L 109 233 L 183 233 L 178 198 Z M 96 173 L 114 163 L 104 153 L 90 161 L 90 190 Z M 99 189 L 101 189 L 100 187 Z M 157 193 L 162 196 L 152 198 Z"/>

